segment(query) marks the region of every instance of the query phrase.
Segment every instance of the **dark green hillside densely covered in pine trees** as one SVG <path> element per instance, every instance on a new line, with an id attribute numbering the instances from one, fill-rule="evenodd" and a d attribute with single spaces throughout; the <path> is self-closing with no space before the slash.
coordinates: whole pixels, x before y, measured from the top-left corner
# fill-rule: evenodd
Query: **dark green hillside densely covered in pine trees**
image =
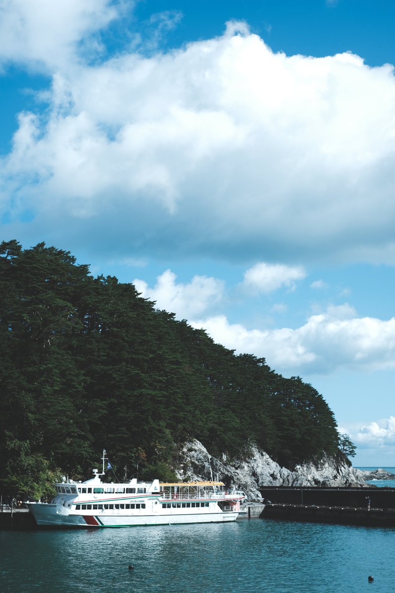
<path id="1" fill-rule="evenodd" d="M 133 285 L 94 278 L 44 243 L 0 246 L 0 492 L 89 476 L 101 450 L 119 478 L 171 477 L 197 438 L 242 458 L 253 442 L 287 467 L 337 454 L 322 396 L 251 354 L 159 311 Z"/>

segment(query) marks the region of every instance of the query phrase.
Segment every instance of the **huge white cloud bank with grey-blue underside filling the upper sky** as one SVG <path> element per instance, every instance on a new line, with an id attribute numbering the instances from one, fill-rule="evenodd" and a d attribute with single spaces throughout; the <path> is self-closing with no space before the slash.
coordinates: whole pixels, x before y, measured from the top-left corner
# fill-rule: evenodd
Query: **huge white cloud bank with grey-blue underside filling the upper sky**
<path id="1" fill-rule="evenodd" d="M 20 114 L 0 165 L 10 232 L 28 210 L 31 228 L 117 228 L 127 253 L 394 261 L 392 66 L 273 53 L 235 23 L 88 65 L 81 43 L 119 15 L 93 7 L 60 2 L 43 33 L 19 0 L 3 21 L 0 56 L 53 73 L 45 116 Z"/>

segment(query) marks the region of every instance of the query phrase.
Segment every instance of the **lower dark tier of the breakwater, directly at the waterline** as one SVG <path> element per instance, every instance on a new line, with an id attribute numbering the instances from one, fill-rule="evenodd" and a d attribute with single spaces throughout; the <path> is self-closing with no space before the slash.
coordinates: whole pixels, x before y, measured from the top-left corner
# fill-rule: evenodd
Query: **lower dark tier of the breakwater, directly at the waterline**
<path id="1" fill-rule="evenodd" d="M 390 509 L 368 510 L 358 507 L 266 504 L 260 517 L 288 521 L 365 525 L 367 527 L 395 527 L 395 510 Z"/>

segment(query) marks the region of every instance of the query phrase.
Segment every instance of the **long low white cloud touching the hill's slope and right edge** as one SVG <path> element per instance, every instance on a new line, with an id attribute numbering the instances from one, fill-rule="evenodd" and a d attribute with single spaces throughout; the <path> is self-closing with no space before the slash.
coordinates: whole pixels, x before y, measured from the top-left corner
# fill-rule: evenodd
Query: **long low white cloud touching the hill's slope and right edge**
<path id="1" fill-rule="evenodd" d="M 216 342 L 266 358 L 285 374 L 325 373 L 348 368 L 364 371 L 395 368 L 395 318 L 357 317 L 349 305 L 329 307 L 297 329 L 247 329 L 225 315 L 192 321 Z"/>

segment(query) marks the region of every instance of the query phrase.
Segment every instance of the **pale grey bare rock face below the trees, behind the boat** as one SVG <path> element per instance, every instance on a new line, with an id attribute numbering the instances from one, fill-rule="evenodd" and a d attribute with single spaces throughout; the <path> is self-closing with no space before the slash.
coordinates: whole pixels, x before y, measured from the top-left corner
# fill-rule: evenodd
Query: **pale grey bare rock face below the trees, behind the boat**
<path id="1" fill-rule="evenodd" d="M 244 490 L 249 500 L 261 501 L 263 486 L 367 486 L 357 470 L 346 463 L 324 457 L 319 463 L 297 466 L 294 471 L 280 467 L 264 451 L 253 447 L 246 460 L 228 463 L 210 457 L 199 441 L 185 444 L 181 451 L 178 476 L 181 480 L 220 480 L 227 486 Z"/>

